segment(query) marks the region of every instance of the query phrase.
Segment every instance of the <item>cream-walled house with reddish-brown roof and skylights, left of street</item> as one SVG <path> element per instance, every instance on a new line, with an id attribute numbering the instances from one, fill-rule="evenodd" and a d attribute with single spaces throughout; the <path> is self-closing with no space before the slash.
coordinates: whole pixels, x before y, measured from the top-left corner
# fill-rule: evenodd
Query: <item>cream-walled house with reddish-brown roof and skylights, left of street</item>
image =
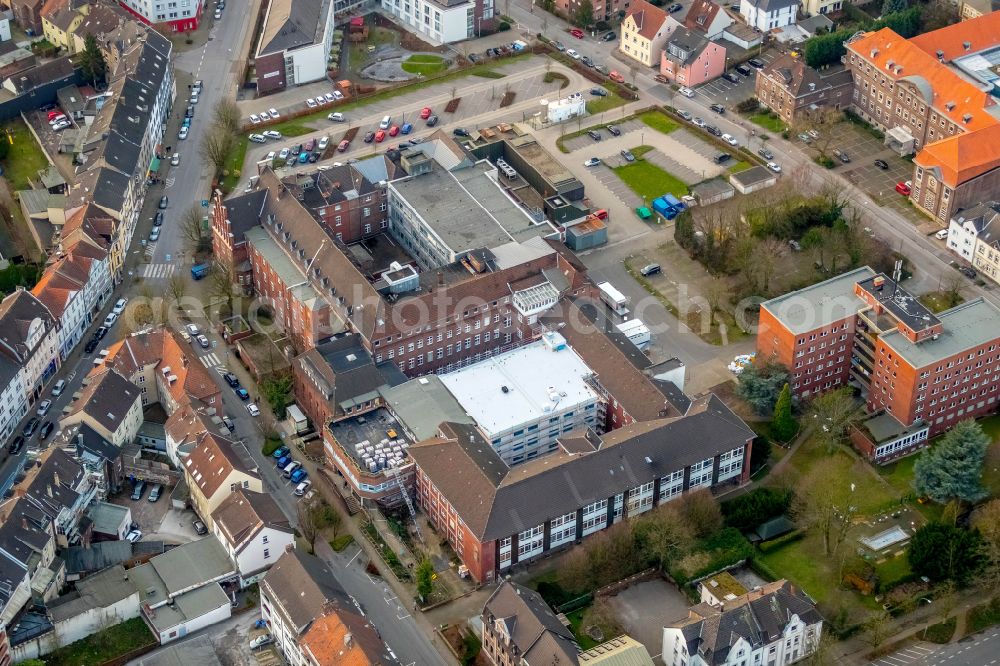
<path id="1" fill-rule="evenodd" d="M 238 488 L 264 492 L 260 474 L 243 462 L 236 443 L 207 432 L 184 459 L 184 480 L 195 513 L 213 532 L 215 510 Z"/>

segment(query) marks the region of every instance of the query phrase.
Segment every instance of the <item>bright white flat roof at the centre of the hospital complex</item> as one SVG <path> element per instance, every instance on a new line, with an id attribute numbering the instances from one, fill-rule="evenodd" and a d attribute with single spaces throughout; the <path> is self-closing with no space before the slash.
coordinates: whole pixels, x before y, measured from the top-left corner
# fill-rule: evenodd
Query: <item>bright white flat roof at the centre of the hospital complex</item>
<path id="1" fill-rule="evenodd" d="M 548 414 L 596 402 L 597 394 L 584 381 L 592 374 L 568 346 L 553 351 L 539 341 L 439 377 L 492 437 Z"/>

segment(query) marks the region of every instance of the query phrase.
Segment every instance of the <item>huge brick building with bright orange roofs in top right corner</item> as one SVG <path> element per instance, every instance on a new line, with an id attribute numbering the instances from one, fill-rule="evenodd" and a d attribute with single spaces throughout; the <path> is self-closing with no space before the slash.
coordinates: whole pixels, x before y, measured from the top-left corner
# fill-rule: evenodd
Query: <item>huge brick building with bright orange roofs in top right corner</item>
<path id="1" fill-rule="evenodd" d="M 885 28 L 847 43 L 854 108 L 901 155 L 916 152 L 910 200 L 942 225 L 1000 190 L 1000 105 L 984 65 L 1000 13 L 902 39 Z"/>

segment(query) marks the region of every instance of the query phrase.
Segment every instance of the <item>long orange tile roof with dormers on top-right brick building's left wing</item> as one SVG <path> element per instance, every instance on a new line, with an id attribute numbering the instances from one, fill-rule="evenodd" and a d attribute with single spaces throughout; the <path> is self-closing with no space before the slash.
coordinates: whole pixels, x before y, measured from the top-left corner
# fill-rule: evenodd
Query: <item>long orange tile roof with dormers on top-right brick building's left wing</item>
<path id="1" fill-rule="evenodd" d="M 938 62 L 936 57 L 903 39 L 890 28 L 870 32 L 848 43 L 847 48 L 871 63 L 879 73 L 894 81 L 911 78 L 918 83 L 918 87 L 920 79 L 926 81 L 933 95 L 929 100 L 931 107 L 966 131 L 971 132 L 998 123 L 998 120 L 985 110 L 986 107 L 996 104 L 988 93 L 972 85 L 947 65 Z M 890 62 L 893 63 L 893 67 L 887 69 L 887 64 Z M 953 103 L 951 110 L 945 107 L 948 103 Z M 966 114 L 970 118 L 968 122 L 965 121 Z"/>

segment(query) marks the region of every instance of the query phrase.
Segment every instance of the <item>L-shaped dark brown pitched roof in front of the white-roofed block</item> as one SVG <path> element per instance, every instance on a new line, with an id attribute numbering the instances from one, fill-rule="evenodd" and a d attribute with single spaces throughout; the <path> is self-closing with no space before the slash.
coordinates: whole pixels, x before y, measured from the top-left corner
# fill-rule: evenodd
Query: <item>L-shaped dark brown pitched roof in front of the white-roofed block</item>
<path id="1" fill-rule="evenodd" d="M 745 446 L 754 437 L 714 395 L 692 403 L 682 417 L 636 423 L 600 436 L 570 433 L 553 453 L 513 468 L 474 426 L 446 423 L 441 432 L 444 437 L 411 446 L 410 456 L 482 541 L 540 525 Z M 622 473 L 609 473 L 618 469 Z"/>

